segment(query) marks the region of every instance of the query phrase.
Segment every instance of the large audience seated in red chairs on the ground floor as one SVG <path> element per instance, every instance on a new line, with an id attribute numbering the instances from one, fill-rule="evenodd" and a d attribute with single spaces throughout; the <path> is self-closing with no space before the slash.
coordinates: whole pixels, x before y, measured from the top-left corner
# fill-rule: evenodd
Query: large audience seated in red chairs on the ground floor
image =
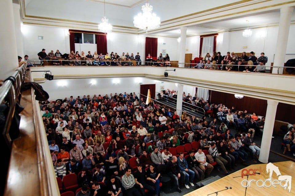
<path id="1" fill-rule="evenodd" d="M 227 175 L 238 163 L 247 165 L 248 153 L 257 162 L 260 149 L 253 137 L 263 122 L 255 113 L 202 98 L 197 103 L 208 106 L 206 113 L 211 110 L 221 125 L 186 112 L 179 117 L 153 100 L 146 105 L 135 93 L 40 102 L 56 177 L 77 174 L 79 187 L 92 188 L 91 195 L 145 195 L 145 190 L 159 195 L 163 174 L 181 192 L 179 186 L 190 189 L 216 164 Z M 230 126 L 244 132 L 232 135 Z"/>

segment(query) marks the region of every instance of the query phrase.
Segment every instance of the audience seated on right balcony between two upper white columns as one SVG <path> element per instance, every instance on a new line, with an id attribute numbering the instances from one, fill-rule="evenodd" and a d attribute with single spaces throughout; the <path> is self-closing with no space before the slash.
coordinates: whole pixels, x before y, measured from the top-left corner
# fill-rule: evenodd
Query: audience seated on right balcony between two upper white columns
<path id="1" fill-rule="evenodd" d="M 265 63 L 268 58 L 264 53 L 260 57 L 255 57 L 254 52 L 250 52 L 247 57 L 246 52 L 238 57 L 234 52 L 227 52 L 226 56 L 221 56 L 220 52 L 214 52 L 213 57 L 209 53 L 203 59 L 197 62 L 194 68 L 197 69 L 219 69 L 226 71 L 240 71 L 240 72 L 260 72 L 265 73 Z"/>

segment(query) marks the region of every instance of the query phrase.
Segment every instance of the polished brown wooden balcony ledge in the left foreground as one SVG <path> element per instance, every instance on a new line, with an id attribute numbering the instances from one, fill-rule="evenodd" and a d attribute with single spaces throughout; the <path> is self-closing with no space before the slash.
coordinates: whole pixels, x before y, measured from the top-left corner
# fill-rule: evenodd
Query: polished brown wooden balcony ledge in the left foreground
<path id="1" fill-rule="evenodd" d="M 26 72 L 25 82 L 31 81 Z M 12 143 L 5 196 L 59 196 L 56 177 L 45 135 L 38 102 L 33 88 L 22 92 L 20 137 Z"/>

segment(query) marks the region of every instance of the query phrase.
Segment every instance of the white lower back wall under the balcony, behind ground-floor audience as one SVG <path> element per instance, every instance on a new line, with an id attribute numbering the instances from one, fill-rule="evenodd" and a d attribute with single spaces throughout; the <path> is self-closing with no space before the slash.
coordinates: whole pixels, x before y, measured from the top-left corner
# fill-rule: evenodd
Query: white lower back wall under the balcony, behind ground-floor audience
<path id="1" fill-rule="evenodd" d="M 114 83 L 116 82 L 116 83 Z M 164 89 L 176 90 L 175 83 L 151 80 L 141 77 L 124 78 L 81 78 L 81 79 L 59 79 L 46 80 L 41 86 L 48 92 L 49 100 L 64 99 L 65 97 L 83 97 L 83 95 L 105 95 L 113 93 L 140 93 L 140 83 L 155 84 L 156 92 L 160 92 L 160 86 Z M 183 90 L 187 93 L 193 93 L 193 87 L 184 86 Z M 182 94 L 182 92 L 181 92 Z"/>

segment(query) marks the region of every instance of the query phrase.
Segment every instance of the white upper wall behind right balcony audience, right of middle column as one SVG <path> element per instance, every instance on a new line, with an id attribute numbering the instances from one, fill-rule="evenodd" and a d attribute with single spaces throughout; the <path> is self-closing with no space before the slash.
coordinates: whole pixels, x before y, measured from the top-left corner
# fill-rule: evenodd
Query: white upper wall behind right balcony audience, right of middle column
<path id="1" fill-rule="evenodd" d="M 216 51 L 220 51 L 222 56 L 226 55 L 226 52 L 228 51 L 236 53 L 250 53 L 251 51 L 254 51 L 256 57 L 260 57 L 260 53 L 264 52 L 265 56 L 268 57 L 268 63 L 266 65 L 270 65 L 270 63 L 273 62 L 274 58 L 275 47 L 277 43 L 278 26 L 251 30 L 251 37 L 243 37 L 243 31 L 219 33 L 219 35 L 217 36 Z M 295 37 L 293 36 L 294 32 L 295 25 L 290 25 L 286 52 L 290 55 L 286 56 L 286 60 L 295 57 L 295 55 L 291 55 L 295 53 Z M 187 53 L 193 53 L 193 58 L 199 56 L 199 47 L 197 47 L 197 45 L 200 38 L 198 37 L 198 41 L 195 41 L 195 44 L 193 44 L 193 40 L 196 39 L 196 37 L 197 36 L 187 37 L 186 48 L 189 49 Z M 244 49 L 243 46 L 247 46 L 247 48 Z"/>

